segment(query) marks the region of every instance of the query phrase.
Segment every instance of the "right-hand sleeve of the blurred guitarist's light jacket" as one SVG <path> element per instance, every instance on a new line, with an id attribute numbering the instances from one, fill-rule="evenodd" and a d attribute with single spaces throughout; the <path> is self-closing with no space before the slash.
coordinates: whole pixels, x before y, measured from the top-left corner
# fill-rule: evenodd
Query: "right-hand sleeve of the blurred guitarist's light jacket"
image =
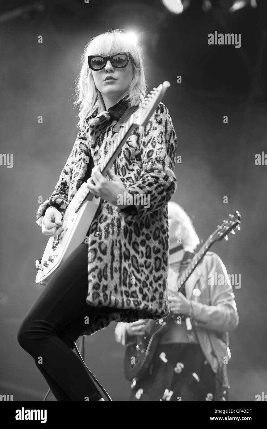
<path id="1" fill-rule="evenodd" d="M 219 332 L 232 331 L 237 327 L 239 317 L 225 265 L 215 253 L 212 253 L 210 257 L 205 257 L 204 261 L 206 261 L 206 281 L 209 284 L 210 305 L 191 301 L 192 319 L 197 322 L 197 326 L 205 329 L 214 329 Z M 223 275 L 225 279 L 223 285 L 214 284 L 214 278 L 218 278 L 219 275 Z"/>

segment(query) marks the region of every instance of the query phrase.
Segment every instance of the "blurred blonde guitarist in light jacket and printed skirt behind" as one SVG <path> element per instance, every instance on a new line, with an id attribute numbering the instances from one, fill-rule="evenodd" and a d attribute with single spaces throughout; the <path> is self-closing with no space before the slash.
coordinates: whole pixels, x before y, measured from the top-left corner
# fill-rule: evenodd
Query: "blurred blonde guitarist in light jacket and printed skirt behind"
<path id="1" fill-rule="evenodd" d="M 168 218 L 169 328 L 161 336 L 143 378 L 133 381 L 130 401 L 228 400 L 228 331 L 239 321 L 233 289 L 221 259 L 207 252 L 182 293 L 176 291 L 179 272 L 194 256 L 199 239 L 180 205 L 168 202 Z M 182 244 L 177 245 L 178 238 Z M 215 272 L 217 278 L 224 275 L 224 285 L 214 284 Z M 118 323 L 116 341 L 127 345 L 136 335 L 145 335 L 145 321 Z"/>

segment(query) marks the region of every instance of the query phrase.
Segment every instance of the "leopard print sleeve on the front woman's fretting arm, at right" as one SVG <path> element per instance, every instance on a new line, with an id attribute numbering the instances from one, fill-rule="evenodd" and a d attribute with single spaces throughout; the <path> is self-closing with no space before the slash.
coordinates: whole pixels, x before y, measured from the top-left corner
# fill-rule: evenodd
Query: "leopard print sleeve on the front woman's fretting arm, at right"
<path id="1" fill-rule="evenodd" d="M 146 127 L 139 127 L 139 142 L 142 160 L 140 180 L 127 187 L 127 193 L 147 196 L 148 203 L 121 209 L 125 221 L 130 222 L 166 205 L 176 190 L 176 133 L 163 103 L 159 103 Z"/>

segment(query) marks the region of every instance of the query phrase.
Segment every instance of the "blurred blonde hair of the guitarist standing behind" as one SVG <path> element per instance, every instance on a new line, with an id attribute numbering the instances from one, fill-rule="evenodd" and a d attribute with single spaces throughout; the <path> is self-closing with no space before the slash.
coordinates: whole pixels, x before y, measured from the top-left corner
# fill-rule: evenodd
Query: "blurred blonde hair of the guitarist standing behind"
<path id="1" fill-rule="evenodd" d="M 193 252 L 200 241 L 188 214 L 181 205 L 169 201 L 168 217 L 177 221 L 176 237 L 181 237 L 185 251 Z"/>

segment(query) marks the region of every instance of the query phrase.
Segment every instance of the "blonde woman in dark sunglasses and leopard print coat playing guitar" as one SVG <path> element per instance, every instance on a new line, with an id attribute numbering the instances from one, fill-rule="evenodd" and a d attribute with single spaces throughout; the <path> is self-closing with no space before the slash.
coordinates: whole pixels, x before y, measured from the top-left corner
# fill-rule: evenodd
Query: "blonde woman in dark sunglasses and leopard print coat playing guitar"
<path id="1" fill-rule="evenodd" d="M 119 30 L 86 45 L 76 85 L 79 132 L 52 195 L 37 211 L 42 234 L 60 234 L 62 217 L 86 181 L 101 201 L 84 240 L 46 285 L 18 331 L 58 401 L 103 401 L 74 352 L 80 335 L 112 320 L 168 314 L 167 202 L 176 189 L 176 135 L 159 103 L 146 127 L 133 131 L 109 175 L 99 171 L 128 107 L 146 94 L 140 48 Z M 149 205 L 120 205 L 118 195 L 146 194 Z M 133 281 L 134 279 L 134 281 Z M 42 364 L 39 364 L 42 356 Z"/>

